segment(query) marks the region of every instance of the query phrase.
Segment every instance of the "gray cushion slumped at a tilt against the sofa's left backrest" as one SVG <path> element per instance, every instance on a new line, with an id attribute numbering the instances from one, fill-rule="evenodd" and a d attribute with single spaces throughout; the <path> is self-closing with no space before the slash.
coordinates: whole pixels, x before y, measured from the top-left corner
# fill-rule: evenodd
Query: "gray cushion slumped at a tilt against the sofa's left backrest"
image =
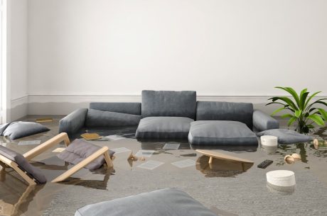
<path id="1" fill-rule="evenodd" d="M 139 120 L 141 120 L 141 115 L 114 113 L 89 109 L 85 120 L 85 126 L 105 127 L 137 125 L 139 124 Z"/>

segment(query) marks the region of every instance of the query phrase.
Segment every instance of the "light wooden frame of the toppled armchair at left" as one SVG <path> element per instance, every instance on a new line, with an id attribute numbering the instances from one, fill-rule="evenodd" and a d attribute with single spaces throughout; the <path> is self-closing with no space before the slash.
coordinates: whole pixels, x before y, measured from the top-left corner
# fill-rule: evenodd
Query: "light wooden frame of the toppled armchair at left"
<path id="1" fill-rule="evenodd" d="M 62 132 L 59 135 L 56 135 L 55 137 L 51 138 L 50 140 L 43 142 L 43 144 L 40 144 L 38 147 L 35 147 L 34 149 L 31 149 L 30 151 L 23 154 L 23 157 L 26 158 L 26 160 L 30 161 L 31 159 L 37 157 L 39 154 L 42 154 L 46 150 L 50 149 L 51 147 L 55 146 L 56 144 L 59 144 L 60 142 L 64 141 L 66 147 L 70 144 L 69 137 L 67 133 Z M 108 147 L 102 147 L 101 149 L 97 150 L 97 152 L 91 154 L 86 159 L 80 161 L 80 163 L 73 166 L 71 169 L 68 169 L 68 171 L 65 171 L 65 173 L 61 174 L 57 178 L 53 179 L 53 183 L 64 181 L 66 178 L 72 176 L 77 171 L 82 169 L 83 167 L 87 166 L 87 164 L 90 164 L 92 161 L 100 157 L 101 155 L 104 156 L 104 160 L 108 167 L 113 167 L 112 159 L 110 158 L 108 154 Z M 22 171 L 18 164 L 16 164 L 15 161 L 11 161 L 10 159 L 0 155 L 0 166 L 3 168 L 0 171 L 1 178 L 4 178 L 5 175 L 5 167 L 9 166 L 12 169 L 14 169 L 29 185 L 36 185 L 35 179 L 31 178 L 31 176 L 28 176 L 28 174 L 25 171 Z"/>

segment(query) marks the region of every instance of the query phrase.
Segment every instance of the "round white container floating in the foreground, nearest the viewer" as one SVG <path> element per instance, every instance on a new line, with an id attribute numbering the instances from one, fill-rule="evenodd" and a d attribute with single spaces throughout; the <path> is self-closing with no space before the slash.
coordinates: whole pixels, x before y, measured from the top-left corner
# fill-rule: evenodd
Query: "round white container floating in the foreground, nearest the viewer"
<path id="1" fill-rule="evenodd" d="M 274 170 L 266 174 L 267 182 L 273 186 L 291 187 L 295 186 L 295 174 L 289 170 Z"/>

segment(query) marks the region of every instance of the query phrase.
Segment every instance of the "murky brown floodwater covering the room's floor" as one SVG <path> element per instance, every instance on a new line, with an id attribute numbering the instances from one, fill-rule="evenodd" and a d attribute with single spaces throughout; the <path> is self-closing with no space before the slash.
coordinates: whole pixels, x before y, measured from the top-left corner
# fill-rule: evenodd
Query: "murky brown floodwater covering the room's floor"
<path id="1" fill-rule="evenodd" d="M 26 120 L 36 118 L 29 116 Z M 18 145 L 19 141 L 43 142 L 57 135 L 60 116 L 53 118 L 52 123 L 43 123 L 51 129 L 49 132 L 14 142 L 3 139 L 2 144 L 17 152 L 27 152 L 36 145 Z M 219 215 L 327 215 L 327 147 L 317 150 L 312 143 L 301 143 L 283 145 L 278 149 L 262 149 L 260 146 L 220 148 L 220 152 L 250 159 L 254 164 L 242 166 L 214 159 L 209 166 L 208 157 L 195 152 L 187 141 L 178 141 L 180 146 L 176 150 L 164 149 L 166 142 L 137 142 L 134 130 L 132 127 L 92 130 L 101 135 L 124 137 L 92 142 L 122 151 L 115 154 L 114 169 L 102 168 L 93 173 L 84 169 L 65 183 L 46 183 L 43 186 L 27 186 L 14 172 L 6 174 L 0 182 L 0 215 L 74 215 L 75 210 L 83 205 L 172 187 L 181 188 L 208 208 L 217 208 Z M 326 127 L 316 132 L 316 136 L 326 140 Z M 148 150 L 144 153 L 148 157 L 145 161 L 128 160 L 130 152 L 124 152 L 127 151 L 124 148 L 134 154 L 140 149 Z M 44 171 L 49 181 L 70 168 L 55 157 L 53 149 L 33 162 Z M 285 164 L 284 156 L 292 153 L 300 154 L 301 161 Z M 272 159 L 274 163 L 267 169 L 258 169 L 257 164 L 264 159 Z M 144 163 L 148 163 L 149 168 L 160 165 L 143 169 Z M 294 190 L 281 191 L 267 186 L 265 174 L 275 169 L 295 172 Z"/>

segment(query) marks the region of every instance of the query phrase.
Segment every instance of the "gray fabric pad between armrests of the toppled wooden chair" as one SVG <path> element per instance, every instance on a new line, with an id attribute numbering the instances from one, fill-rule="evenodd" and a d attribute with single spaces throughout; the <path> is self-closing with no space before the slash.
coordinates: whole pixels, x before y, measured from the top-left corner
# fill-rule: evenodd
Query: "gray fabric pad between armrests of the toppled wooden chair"
<path id="1" fill-rule="evenodd" d="M 68 145 L 65 151 L 57 154 L 57 157 L 71 164 L 78 164 L 80 161 L 86 159 L 99 149 L 101 149 L 101 147 L 91 144 L 90 142 L 85 142 L 84 140 L 74 140 Z M 109 150 L 110 157 L 112 157 L 113 154 L 114 152 Z M 90 170 L 95 170 L 99 169 L 103 164 L 104 157 L 102 155 L 92 161 L 90 164 L 87 164 L 85 167 Z"/>

